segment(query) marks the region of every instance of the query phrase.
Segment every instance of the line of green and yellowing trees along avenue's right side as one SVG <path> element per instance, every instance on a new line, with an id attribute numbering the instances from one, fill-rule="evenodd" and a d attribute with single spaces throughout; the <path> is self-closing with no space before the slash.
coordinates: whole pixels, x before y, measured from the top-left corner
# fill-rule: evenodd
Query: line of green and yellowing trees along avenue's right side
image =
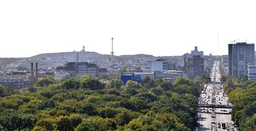
<path id="1" fill-rule="evenodd" d="M 221 60 L 220 60 L 221 62 Z M 255 131 L 256 130 L 256 82 L 249 80 L 248 76 L 241 76 L 239 79 L 235 76 L 226 75 L 223 67 L 220 64 L 221 80 L 224 85 L 224 90 L 228 96 L 228 102 L 233 104 L 231 112 L 231 120 L 234 121 L 238 130 Z M 247 85 L 247 89 L 229 88 L 227 84 Z"/>

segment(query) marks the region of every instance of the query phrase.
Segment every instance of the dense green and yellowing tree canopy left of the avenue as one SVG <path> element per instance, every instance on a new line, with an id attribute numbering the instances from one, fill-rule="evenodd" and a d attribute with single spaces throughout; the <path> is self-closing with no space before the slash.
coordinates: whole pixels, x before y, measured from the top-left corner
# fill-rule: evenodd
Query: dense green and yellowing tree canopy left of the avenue
<path id="1" fill-rule="evenodd" d="M 84 76 L 61 83 L 47 77 L 40 79 L 35 87 L 21 91 L 9 91 L 0 85 L 0 130 L 189 131 L 194 128 L 199 91 L 191 80 L 178 78 L 172 84 L 145 78 L 143 82 L 128 81 L 124 87 L 118 78 L 103 84 Z M 248 125 L 255 121 L 253 118 Z"/>

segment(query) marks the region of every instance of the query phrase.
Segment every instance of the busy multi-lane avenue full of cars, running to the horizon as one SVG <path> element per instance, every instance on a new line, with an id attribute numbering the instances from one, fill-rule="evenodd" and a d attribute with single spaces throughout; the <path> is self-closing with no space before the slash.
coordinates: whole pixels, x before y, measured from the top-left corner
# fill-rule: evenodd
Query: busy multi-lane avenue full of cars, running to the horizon
<path id="1" fill-rule="evenodd" d="M 196 131 L 234 131 L 234 123 L 231 121 L 231 109 L 224 108 L 204 108 L 204 104 L 209 105 L 229 105 L 228 97 L 225 95 L 223 85 L 220 83 L 219 62 L 215 61 L 211 70 L 211 82 L 205 84 L 201 95 L 198 98 L 198 126 Z M 217 107 L 217 106 L 216 106 Z"/>

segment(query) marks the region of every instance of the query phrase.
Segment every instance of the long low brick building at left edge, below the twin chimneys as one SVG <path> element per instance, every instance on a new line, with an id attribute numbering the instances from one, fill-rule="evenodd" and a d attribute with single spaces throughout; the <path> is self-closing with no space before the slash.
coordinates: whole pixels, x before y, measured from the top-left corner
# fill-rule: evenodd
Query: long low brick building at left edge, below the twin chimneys
<path id="1" fill-rule="evenodd" d="M 26 80 L 22 78 L 3 78 L 0 79 L 0 85 L 12 90 L 17 89 L 20 90 L 24 87 L 32 87 L 36 81 Z"/>

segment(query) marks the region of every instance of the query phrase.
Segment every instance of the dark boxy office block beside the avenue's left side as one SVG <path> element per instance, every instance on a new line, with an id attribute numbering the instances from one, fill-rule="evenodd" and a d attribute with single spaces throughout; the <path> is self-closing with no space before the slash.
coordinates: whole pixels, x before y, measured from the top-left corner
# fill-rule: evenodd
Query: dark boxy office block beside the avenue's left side
<path id="1" fill-rule="evenodd" d="M 184 58 L 184 61 L 184 68 L 189 73 L 189 79 L 194 79 L 204 73 L 204 59 L 200 55 L 193 55 L 193 58 Z"/>

